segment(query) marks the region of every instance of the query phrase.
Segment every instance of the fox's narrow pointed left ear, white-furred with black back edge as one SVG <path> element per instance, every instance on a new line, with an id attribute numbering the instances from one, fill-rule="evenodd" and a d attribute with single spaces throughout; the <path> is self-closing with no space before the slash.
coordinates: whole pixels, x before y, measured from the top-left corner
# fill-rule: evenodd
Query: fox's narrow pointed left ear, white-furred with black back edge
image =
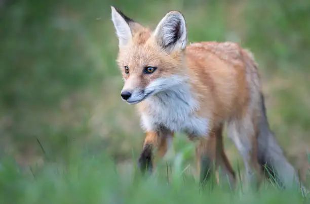
<path id="1" fill-rule="evenodd" d="M 111 6 L 111 16 L 116 34 L 119 38 L 119 46 L 124 46 L 132 38 L 131 25 L 134 24 L 134 21 L 113 6 Z"/>

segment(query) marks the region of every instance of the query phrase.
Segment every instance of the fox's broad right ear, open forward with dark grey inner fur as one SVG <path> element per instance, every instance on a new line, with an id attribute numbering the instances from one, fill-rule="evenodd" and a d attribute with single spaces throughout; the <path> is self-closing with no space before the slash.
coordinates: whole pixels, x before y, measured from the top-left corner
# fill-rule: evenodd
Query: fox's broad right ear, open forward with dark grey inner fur
<path id="1" fill-rule="evenodd" d="M 157 43 L 168 52 L 184 49 L 187 33 L 183 15 L 178 11 L 169 12 L 157 25 L 153 35 Z"/>

